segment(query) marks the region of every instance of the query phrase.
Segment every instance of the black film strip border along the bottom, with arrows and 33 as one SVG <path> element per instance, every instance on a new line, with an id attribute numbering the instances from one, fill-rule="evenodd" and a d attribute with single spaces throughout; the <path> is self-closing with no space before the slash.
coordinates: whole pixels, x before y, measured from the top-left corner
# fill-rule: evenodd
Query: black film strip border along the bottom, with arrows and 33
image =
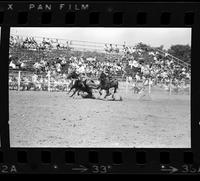
<path id="1" fill-rule="evenodd" d="M 199 174 L 196 155 L 182 149 L 12 149 L 0 152 L 0 173 Z"/>

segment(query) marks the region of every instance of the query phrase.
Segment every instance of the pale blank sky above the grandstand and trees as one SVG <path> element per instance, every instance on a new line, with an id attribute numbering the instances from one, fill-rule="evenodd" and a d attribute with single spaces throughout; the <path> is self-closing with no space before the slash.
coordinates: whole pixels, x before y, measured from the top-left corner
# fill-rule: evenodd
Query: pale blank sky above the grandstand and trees
<path id="1" fill-rule="evenodd" d="M 156 47 L 163 45 L 191 46 L 191 28 L 11 28 L 11 34 L 36 36 L 98 43 L 124 44 L 134 46 L 139 42 Z"/>

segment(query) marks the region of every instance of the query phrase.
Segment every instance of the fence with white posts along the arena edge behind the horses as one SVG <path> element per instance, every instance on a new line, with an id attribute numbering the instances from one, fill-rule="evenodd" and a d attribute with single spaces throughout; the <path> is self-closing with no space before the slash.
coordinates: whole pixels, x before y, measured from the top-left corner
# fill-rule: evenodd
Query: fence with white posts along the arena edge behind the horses
<path id="1" fill-rule="evenodd" d="M 9 70 L 9 90 L 37 90 L 37 91 L 68 91 L 70 80 L 67 80 L 66 77 L 59 77 L 59 75 L 52 75 L 50 71 L 48 73 L 37 74 L 39 80 L 34 80 L 34 72 L 33 71 L 23 71 L 23 70 Z M 14 79 L 12 79 L 14 77 Z M 28 81 L 24 79 L 24 77 L 29 79 Z M 88 77 L 93 80 L 98 80 L 97 77 L 92 76 Z M 140 81 L 130 81 L 129 77 L 115 76 L 121 84 L 125 85 L 125 93 L 128 93 L 128 90 L 134 88 L 134 85 L 138 85 L 139 87 L 146 87 L 148 94 L 152 93 L 153 82 L 151 79 L 140 80 Z M 10 81 L 10 79 L 12 79 Z M 185 84 L 189 85 L 189 94 L 190 94 L 190 82 L 185 82 Z M 146 85 L 146 86 L 145 86 Z M 168 87 L 169 95 L 172 95 L 173 91 L 173 83 L 170 80 L 168 83 L 162 83 L 162 86 Z M 134 90 L 134 89 L 133 89 Z M 164 89 L 163 89 L 164 90 Z"/>

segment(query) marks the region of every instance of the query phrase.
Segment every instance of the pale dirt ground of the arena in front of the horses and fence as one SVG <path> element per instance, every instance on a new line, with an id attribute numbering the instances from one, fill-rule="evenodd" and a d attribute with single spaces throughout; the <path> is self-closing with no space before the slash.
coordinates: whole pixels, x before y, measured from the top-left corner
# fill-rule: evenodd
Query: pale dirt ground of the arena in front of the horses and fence
<path id="1" fill-rule="evenodd" d="M 151 100 L 119 89 L 122 101 L 66 92 L 9 91 L 11 147 L 190 148 L 190 96 L 152 89 Z"/>

